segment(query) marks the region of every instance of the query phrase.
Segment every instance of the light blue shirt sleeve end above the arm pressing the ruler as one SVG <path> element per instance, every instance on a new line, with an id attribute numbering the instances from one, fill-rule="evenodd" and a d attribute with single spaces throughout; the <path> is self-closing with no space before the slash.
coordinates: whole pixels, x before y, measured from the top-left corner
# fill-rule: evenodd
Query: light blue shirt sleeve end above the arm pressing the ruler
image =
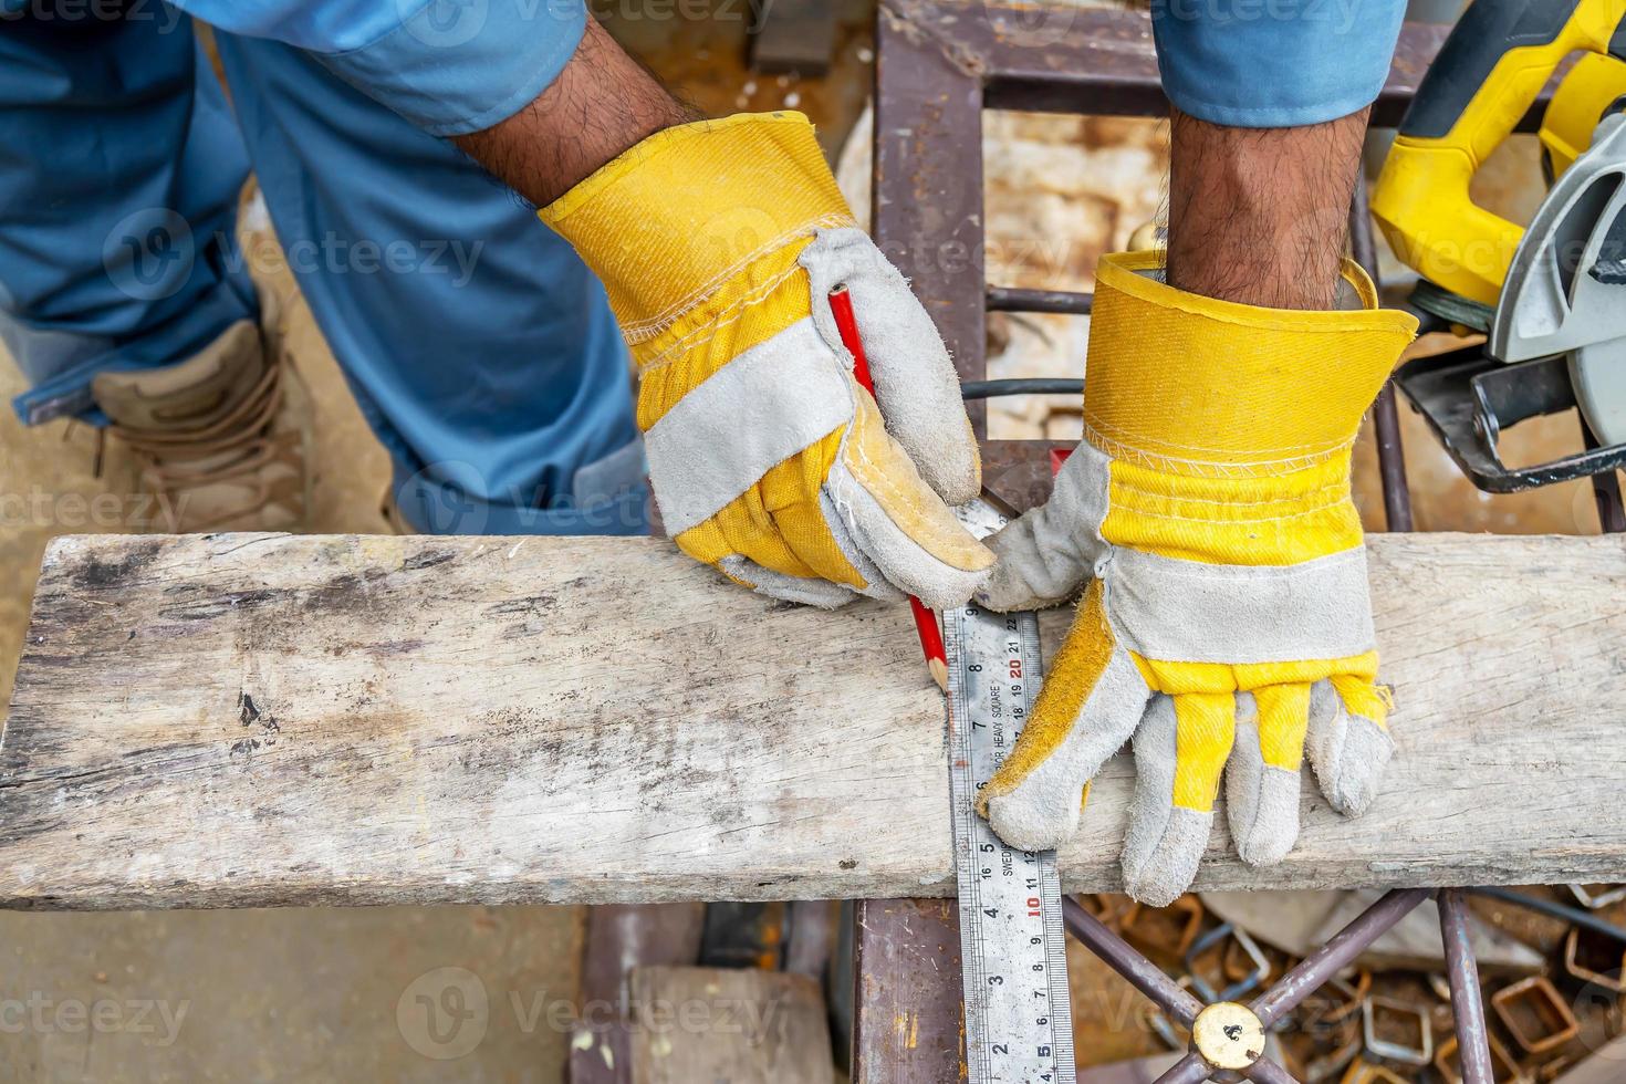
<path id="1" fill-rule="evenodd" d="M 1153 0 L 1163 89 L 1239 128 L 1337 120 L 1377 98 L 1405 0 Z"/>

